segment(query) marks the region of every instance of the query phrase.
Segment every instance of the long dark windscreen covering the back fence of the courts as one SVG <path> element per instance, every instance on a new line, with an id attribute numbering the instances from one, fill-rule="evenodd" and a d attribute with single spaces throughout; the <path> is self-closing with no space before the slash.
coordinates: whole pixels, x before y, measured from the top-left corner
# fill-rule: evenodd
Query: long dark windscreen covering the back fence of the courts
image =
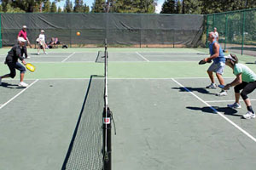
<path id="1" fill-rule="evenodd" d="M 23 25 L 32 44 L 40 30 L 45 31 L 46 42 L 57 37 L 69 47 L 102 46 L 105 38 L 112 47 L 179 48 L 205 43 L 200 14 L 2 14 L 1 19 L 3 46 L 15 44 Z"/>

